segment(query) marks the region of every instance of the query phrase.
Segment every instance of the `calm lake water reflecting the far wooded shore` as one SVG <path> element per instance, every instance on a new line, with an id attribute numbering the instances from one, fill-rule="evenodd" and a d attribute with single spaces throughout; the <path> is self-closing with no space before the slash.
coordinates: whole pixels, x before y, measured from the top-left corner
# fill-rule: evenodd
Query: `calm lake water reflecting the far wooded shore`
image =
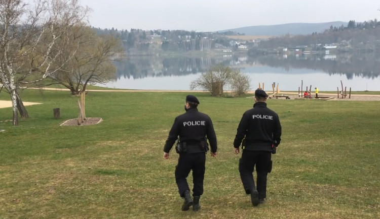
<path id="1" fill-rule="evenodd" d="M 357 59 L 356 59 L 357 58 Z M 224 63 L 240 68 L 250 76 L 251 89 L 260 83 L 272 90 L 272 83 L 280 90 L 298 90 L 306 86 L 322 91 L 344 88 L 353 91 L 380 91 L 380 59 L 370 54 L 363 56 L 270 56 L 220 58 L 134 58 L 118 63 L 118 79 L 100 85 L 109 88 L 143 90 L 189 90 L 192 81 L 212 65 Z M 199 88 L 200 89 L 200 88 Z"/>

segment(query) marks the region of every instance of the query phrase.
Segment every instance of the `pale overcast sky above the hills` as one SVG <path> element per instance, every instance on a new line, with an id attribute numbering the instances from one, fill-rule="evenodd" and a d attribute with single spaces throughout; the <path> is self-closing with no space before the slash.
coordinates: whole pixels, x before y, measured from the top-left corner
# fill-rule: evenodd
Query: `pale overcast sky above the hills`
<path id="1" fill-rule="evenodd" d="M 80 0 L 91 26 L 218 31 L 247 26 L 380 20 L 380 0 Z"/>

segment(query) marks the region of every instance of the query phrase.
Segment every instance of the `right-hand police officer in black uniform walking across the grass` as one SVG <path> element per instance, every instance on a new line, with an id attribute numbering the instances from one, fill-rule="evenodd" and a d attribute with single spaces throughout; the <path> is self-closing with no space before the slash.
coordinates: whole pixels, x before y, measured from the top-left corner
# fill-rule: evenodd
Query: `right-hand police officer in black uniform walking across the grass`
<path id="1" fill-rule="evenodd" d="M 280 120 L 274 111 L 267 108 L 267 97 L 265 91 L 255 91 L 253 108 L 243 114 L 234 140 L 235 154 L 238 154 L 244 139 L 239 172 L 246 194 L 251 195 L 253 206 L 264 203 L 267 197 L 267 175 L 272 169 L 271 155 L 281 141 Z M 254 167 L 257 186 L 253 179 Z"/>

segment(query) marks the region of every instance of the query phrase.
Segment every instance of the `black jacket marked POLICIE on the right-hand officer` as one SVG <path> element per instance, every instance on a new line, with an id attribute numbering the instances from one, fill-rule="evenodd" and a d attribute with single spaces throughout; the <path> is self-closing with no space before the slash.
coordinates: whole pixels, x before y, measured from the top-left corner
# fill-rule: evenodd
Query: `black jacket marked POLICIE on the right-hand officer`
<path id="1" fill-rule="evenodd" d="M 281 141 L 281 124 L 278 115 L 266 102 L 256 102 L 243 114 L 234 140 L 238 148 L 245 137 L 246 150 L 272 151 L 272 143 Z"/>

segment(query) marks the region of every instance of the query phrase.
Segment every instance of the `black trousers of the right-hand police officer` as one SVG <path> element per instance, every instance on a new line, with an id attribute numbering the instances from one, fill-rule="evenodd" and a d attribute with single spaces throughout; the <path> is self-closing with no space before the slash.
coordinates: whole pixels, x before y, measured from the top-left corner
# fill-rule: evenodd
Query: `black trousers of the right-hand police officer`
<path id="1" fill-rule="evenodd" d="M 250 151 L 243 150 L 242 157 L 239 159 L 240 178 L 244 190 L 250 194 L 250 189 L 257 189 L 260 199 L 267 197 L 267 175 L 269 171 L 272 153 L 269 151 Z M 253 171 L 256 167 L 256 183 L 253 180 Z"/>

